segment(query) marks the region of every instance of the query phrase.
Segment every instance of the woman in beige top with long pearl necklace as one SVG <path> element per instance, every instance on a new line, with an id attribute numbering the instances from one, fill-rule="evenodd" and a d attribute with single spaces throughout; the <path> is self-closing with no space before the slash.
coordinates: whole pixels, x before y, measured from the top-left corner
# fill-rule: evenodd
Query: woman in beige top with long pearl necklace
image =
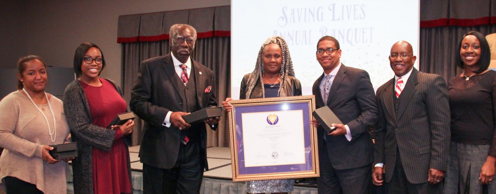
<path id="1" fill-rule="evenodd" d="M 17 91 L 0 101 L 0 188 L 7 194 L 65 194 L 67 162 L 50 156 L 48 145 L 66 141 L 62 101 L 45 92 L 46 65 L 26 56 L 18 63 Z"/>

